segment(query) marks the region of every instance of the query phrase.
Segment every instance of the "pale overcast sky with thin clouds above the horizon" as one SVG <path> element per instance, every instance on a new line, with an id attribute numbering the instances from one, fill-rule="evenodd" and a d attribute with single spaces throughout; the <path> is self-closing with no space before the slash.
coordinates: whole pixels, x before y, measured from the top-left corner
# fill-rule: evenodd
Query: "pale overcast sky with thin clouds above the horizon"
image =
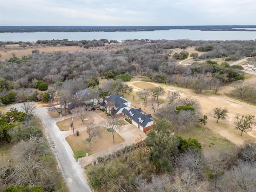
<path id="1" fill-rule="evenodd" d="M 256 0 L 0 0 L 0 25 L 256 25 Z"/>

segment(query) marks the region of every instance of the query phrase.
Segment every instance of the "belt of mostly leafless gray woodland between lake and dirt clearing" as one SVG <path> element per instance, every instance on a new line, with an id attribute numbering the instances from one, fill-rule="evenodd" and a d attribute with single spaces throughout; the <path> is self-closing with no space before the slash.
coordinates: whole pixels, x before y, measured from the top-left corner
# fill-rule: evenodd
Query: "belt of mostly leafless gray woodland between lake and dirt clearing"
<path id="1" fill-rule="evenodd" d="M 100 42 L 104 44 L 108 40 L 102 39 Z M 197 46 L 207 47 L 209 44 L 212 44 L 213 50 L 206 54 L 219 50 L 228 56 L 234 53 L 238 57 L 256 54 L 254 41 L 148 39 L 124 40 L 120 44 L 120 50 L 109 52 L 88 50 L 76 53 L 40 53 L 39 50 L 32 50 L 29 56 L 14 56 L 0 63 L 0 96 L 8 96 L 12 89 L 18 94 L 24 89 L 36 88 L 38 81 L 43 81 L 48 86 L 70 88 L 70 92 L 74 94 L 88 87 L 91 77 L 116 77 L 123 80 L 128 77 L 129 80 L 132 76 L 146 76 L 154 82 L 191 87 L 197 93 L 212 87 L 216 87 L 215 90 L 218 91 L 222 83 L 243 79 L 239 66 L 229 66 L 224 61 L 220 65 L 211 60 L 198 62 L 196 60 L 200 60 L 200 56 L 193 55 L 195 62 L 191 66 L 176 64 L 180 56 L 186 58 L 188 54 L 186 51 L 173 54 L 173 48 L 196 46 L 197 49 Z"/>

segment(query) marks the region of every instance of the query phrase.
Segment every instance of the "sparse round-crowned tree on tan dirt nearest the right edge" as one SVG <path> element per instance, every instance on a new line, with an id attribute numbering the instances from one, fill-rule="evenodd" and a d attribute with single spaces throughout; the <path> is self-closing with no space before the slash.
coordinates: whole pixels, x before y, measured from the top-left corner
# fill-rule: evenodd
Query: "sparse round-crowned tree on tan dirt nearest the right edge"
<path id="1" fill-rule="evenodd" d="M 247 132 L 252 130 L 252 125 L 256 125 L 256 120 L 254 115 L 240 115 L 237 114 L 235 116 L 234 124 L 236 126 L 235 129 L 241 131 L 241 136 L 243 132 Z"/>

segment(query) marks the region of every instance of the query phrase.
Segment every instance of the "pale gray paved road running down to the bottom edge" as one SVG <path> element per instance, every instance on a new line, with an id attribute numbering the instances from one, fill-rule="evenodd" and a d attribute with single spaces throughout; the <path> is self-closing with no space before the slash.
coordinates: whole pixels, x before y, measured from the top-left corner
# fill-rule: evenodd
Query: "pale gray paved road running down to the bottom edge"
<path id="1" fill-rule="evenodd" d="M 8 106 L 6 109 L 17 108 L 21 110 L 22 104 Z M 44 108 L 38 106 L 35 114 L 40 118 L 44 127 L 48 131 L 48 136 L 55 144 L 55 152 L 60 161 L 66 184 L 70 191 L 91 192 L 88 183 L 84 177 L 83 168 L 76 162 L 72 149 L 65 140 L 64 134 L 59 130 L 55 121 L 48 115 Z"/>

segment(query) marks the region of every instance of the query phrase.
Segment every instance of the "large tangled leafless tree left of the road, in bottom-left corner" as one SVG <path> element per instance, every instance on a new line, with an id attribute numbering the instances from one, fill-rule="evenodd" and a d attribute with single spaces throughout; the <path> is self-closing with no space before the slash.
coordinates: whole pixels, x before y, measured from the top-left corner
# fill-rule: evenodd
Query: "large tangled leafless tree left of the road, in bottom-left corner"
<path id="1" fill-rule="evenodd" d="M 0 186 L 40 185 L 50 191 L 54 186 L 53 181 L 49 179 L 54 177 L 50 166 L 51 156 L 48 144 L 42 138 L 31 137 L 27 142 L 19 142 L 12 147 L 13 163 L 10 162 L 9 166 L 1 168 Z M 2 172 L 2 170 L 6 171 Z"/>

